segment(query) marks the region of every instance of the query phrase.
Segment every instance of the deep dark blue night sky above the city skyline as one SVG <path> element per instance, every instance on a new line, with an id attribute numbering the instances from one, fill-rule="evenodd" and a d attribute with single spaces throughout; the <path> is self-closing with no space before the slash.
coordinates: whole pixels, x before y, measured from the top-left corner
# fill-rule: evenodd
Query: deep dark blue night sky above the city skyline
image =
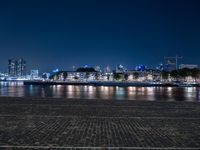
<path id="1" fill-rule="evenodd" d="M 199 8 L 198 0 L 0 1 L 0 70 L 18 57 L 42 71 L 154 67 L 176 54 L 200 64 Z"/>

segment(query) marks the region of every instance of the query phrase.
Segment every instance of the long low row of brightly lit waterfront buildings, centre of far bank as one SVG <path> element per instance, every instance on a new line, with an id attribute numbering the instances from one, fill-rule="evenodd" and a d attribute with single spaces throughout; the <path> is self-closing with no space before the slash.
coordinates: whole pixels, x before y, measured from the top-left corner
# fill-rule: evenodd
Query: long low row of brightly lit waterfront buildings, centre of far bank
<path id="1" fill-rule="evenodd" d="M 161 73 L 158 70 L 123 70 L 117 67 L 113 71 L 66 71 L 59 72 L 50 80 L 54 81 L 156 81 L 161 78 Z M 65 75 L 64 75 L 65 74 Z"/>

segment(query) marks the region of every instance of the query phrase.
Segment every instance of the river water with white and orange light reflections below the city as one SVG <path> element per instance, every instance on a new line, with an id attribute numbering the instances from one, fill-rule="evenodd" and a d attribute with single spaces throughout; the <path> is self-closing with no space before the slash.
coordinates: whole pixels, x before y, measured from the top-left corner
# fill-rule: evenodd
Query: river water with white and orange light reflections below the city
<path id="1" fill-rule="evenodd" d="M 22 82 L 0 82 L 0 96 L 54 97 L 75 99 L 200 101 L 198 87 L 112 86 L 24 86 Z"/>

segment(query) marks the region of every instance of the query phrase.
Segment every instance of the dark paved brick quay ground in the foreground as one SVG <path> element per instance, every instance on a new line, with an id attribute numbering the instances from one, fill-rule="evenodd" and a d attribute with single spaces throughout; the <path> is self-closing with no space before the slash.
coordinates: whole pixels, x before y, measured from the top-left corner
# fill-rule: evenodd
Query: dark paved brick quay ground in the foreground
<path id="1" fill-rule="evenodd" d="M 0 98 L 0 149 L 200 149 L 200 103 Z"/>

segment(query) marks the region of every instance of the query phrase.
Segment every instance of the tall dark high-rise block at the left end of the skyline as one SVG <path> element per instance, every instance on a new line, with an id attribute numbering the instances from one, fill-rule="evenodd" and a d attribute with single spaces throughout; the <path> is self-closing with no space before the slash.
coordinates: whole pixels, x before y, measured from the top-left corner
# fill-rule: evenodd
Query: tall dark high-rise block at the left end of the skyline
<path id="1" fill-rule="evenodd" d="M 8 60 L 8 74 L 13 77 L 23 77 L 26 75 L 26 61 L 20 59 Z"/>

